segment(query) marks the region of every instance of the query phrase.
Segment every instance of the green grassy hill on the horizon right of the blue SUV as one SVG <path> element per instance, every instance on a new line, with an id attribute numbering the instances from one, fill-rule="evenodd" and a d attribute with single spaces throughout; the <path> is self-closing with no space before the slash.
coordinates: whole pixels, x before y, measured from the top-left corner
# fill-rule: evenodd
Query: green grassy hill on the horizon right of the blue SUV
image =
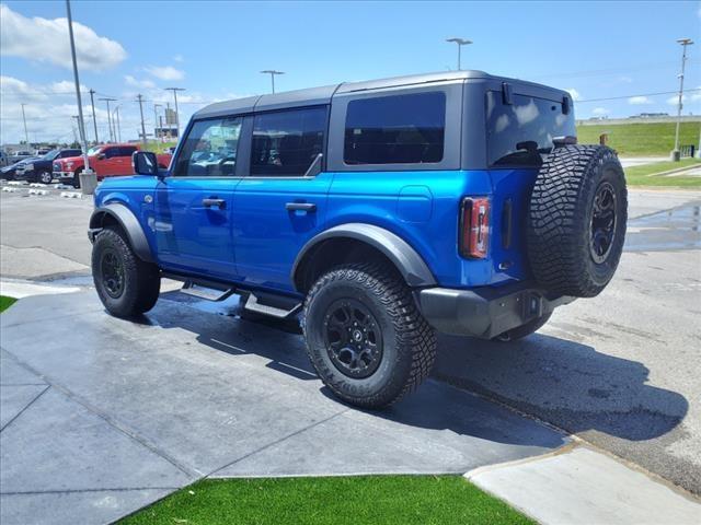
<path id="1" fill-rule="evenodd" d="M 664 156 L 675 145 L 675 124 L 597 124 L 577 126 L 581 144 L 598 144 L 601 133 L 609 133 L 608 145 L 621 156 Z M 682 122 L 679 143 L 699 145 L 701 122 Z"/>

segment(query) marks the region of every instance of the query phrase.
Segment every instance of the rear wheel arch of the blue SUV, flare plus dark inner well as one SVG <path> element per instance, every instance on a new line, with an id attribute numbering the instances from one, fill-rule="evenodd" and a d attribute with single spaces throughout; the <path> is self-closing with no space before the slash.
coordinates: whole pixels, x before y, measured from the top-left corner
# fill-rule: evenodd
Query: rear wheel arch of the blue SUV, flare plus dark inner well
<path id="1" fill-rule="evenodd" d="M 389 261 L 412 288 L 437 284 L 428 265 L 406 241 L 374 224 L 348 223 L 315 235 L 302 247 L 290 271 L 295 289 L 307 292 L 323 270 L 368 252 Z"/>

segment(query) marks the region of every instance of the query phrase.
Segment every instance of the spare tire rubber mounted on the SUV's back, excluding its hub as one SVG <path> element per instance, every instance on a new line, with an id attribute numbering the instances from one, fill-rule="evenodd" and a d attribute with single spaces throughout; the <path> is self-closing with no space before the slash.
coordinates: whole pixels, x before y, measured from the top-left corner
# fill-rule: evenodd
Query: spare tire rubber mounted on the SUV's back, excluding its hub
<path id="1" fill-rule="evenodd" d="M 595 197 L 616 197 L 614 225 L 604 260 L 590 252 Z M 623 250 L 628 192 L 616 152 L 604 145 L 556 148 L 545 159 L 530 198 L 527 249 L 530 268 L 545 290 L 577 298 L 598 295 L 609 283 Z"/>

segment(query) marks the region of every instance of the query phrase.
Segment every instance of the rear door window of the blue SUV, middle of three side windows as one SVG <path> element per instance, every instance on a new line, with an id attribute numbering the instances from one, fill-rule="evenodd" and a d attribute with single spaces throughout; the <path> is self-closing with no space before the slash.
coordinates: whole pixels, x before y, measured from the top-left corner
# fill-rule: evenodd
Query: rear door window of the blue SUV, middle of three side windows
<path id="1" fill-rule="evenodd" d="M 326 107 L 256 115 L 253 120 L 251 175 L 302 176 L 323 151 Z"/>

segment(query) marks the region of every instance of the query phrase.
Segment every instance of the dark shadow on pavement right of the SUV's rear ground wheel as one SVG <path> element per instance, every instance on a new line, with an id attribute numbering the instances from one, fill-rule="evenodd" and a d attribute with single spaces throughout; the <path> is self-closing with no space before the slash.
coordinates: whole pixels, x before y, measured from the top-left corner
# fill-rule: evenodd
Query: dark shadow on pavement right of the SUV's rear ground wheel
<path id="1" fill-rule="evenodd" d="M 642 363 L 558 337 L 505 343 L 443 336 L 438 348 L 435 377 L 571 433 L 651 440 L 675 429 L 689 409 L 682 395 L 647 384 Z"/>

